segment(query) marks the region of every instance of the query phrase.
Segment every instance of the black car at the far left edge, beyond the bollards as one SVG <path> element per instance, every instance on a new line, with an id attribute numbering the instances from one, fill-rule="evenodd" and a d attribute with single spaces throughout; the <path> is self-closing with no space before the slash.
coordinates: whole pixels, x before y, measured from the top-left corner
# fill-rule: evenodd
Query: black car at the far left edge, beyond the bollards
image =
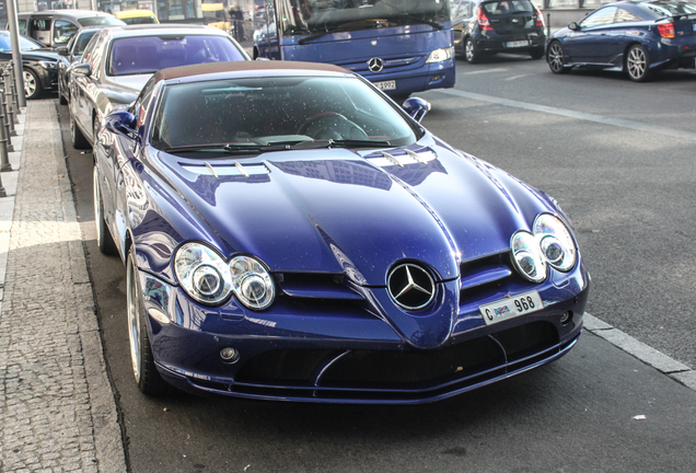
<path id="1" fill-rule="evenodd" d="M 24 78 L 24 93 L 26 99 L 36 99 L 44 91 L 55 91 L 58 88 L 58 56 L 40 43 L 20 35 L 22 65 Z M 0 65 L 12 60 L 12 39 L 10 32 L 0 31 Z"/>

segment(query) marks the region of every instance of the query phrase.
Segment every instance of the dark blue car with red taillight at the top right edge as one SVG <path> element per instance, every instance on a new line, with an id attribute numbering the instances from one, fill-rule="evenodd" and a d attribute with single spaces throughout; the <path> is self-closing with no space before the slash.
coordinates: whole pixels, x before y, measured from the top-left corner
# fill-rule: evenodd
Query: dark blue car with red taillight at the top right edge
<path id="1" fill-rule="evenodd" d="M 696 4 L 678 0 L 606 4 L 554 33 L 546 60 L 554 73 L 575 67 L 623 71 L 642 82 L 662 69 L 694 69 Z"/>

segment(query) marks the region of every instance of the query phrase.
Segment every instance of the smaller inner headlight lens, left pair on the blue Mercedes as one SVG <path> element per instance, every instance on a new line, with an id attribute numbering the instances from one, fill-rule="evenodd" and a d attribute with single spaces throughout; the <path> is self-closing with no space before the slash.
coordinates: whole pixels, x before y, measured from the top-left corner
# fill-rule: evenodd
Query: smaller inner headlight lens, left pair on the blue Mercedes
<path id="1" fill-rule="evenodd" d="M 264 310 L 276 297 L 270 275 L 258 261 L 250 256 L 235 256 L 230 262 L 232 290 L 244 305 Z"/>

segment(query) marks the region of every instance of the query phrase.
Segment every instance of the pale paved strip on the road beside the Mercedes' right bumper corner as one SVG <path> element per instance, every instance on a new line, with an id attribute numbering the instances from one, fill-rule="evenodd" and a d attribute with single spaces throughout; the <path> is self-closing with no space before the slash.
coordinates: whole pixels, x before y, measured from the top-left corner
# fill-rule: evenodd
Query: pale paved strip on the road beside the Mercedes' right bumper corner
<path id="1" fill-rule="evenodd" d="M 584 328 L 607 341 L 612 345 L 638 358 L 646 365 L 681 382 L 686 388 L 696 391 L 696 371 L 686 365 L 666 356 L 662 351 L 637 341 L 630 335 L 614 328 L 612 325 L 601 321 L 588 312 L 583 315 Z"/>

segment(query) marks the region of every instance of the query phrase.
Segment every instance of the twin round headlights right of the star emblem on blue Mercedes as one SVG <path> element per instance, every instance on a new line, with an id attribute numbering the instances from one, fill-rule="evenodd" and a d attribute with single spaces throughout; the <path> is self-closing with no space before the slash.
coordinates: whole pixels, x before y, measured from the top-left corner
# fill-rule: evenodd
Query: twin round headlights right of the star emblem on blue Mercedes
<path id="1" fill-rule="evenodd" d="M 540 214 L 534 220 L 533 234 L 521 230 L 512 235 L 510 246 L 518 272 L 532 282 L 546 279 L 546 265 L 569 272 L 576 264 L 578 251 L 570 231 L 560 219 Z"/>

